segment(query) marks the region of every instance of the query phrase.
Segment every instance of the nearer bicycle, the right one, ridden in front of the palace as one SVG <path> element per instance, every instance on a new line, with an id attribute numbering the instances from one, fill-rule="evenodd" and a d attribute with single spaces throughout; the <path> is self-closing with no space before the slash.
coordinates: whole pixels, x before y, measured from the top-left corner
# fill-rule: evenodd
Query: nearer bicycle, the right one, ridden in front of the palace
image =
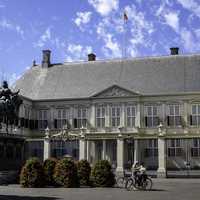
<path id="1" fill-rule="evenodd" d="M 150 177 L 148 177 L 146 174 L 143 174 L 142 176 L 135 175 L 131 176 L 127 179 L 125 188 L 130 191 L 134 189 L 138 190 L 151 190 L 153 186 L 153 182 Z"/>

